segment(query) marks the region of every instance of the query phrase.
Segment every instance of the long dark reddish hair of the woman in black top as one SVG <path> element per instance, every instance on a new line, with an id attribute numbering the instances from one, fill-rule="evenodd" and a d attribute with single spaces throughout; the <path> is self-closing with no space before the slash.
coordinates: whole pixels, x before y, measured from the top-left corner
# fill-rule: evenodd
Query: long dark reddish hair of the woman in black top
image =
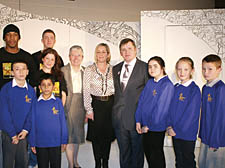
<path id="1" fill-rule="evenodd" d="M 60 69 L 60 65 L 61 65 L 61 60 L 59 58 L 59 54 L 57 53 L 56 50 L 54 50 L 53 48 L 47 48 L 42 52 L 42 56 L 41 58 L 45 58 L 46 55 L 48 54 L 53 54 L 55 56 L 55 64 L 51 69 L 51 74 L 57 79 L 57 80 L 61 80 L 63 77 L 63 73 Z M 41 63 L 43 64 L 43 61 L 41 59 Z"/>

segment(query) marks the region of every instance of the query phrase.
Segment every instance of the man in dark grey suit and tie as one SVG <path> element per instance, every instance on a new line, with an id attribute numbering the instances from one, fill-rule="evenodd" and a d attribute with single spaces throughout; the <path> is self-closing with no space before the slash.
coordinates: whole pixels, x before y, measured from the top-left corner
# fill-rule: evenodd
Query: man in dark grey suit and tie
<path id="1" fill-rule="evenodd" d="M 123 39 L 119 47 L 124 61 L 113 67 L 115 96 L 112 120 L 120 150 L 120 167 L 143 168 L 142 137 L 136 132 L 135 111 L 149 78 L 148 66 L 136 58 L 137 49 L 132 39 Z"/>

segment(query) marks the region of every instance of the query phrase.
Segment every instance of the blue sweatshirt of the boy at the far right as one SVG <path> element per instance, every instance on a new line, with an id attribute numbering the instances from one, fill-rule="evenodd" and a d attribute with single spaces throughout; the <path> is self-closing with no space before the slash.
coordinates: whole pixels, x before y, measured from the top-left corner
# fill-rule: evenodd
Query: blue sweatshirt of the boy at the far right
<path id="1" fill-rule="evenodd" d="M 203 86 L 199 137 L 209 147 L 225 147 L 225 84 Z"/>

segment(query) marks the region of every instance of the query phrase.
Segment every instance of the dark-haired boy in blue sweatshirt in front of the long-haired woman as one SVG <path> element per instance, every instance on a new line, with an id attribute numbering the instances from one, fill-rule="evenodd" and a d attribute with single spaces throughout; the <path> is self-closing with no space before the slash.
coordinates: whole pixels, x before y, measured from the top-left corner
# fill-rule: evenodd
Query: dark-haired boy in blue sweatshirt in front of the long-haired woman
<path id="1" fill-rule="evenodd" d="M 54 96 L 54 77 L 44 74 L 40 79 L 42 94 L 32 107 L 30 146 L 37 154 L 39 168 L 61 167 L 61 150 L 68 141 L 68 132 L 62 101 Z"/>

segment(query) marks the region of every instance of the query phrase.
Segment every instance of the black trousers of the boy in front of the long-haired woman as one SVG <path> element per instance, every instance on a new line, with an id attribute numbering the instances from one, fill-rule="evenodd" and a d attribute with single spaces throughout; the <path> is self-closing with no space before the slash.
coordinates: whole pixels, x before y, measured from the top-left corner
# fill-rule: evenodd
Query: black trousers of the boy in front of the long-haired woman
<path id="1" fill-rule="evenodd" d="M 61 168 L 61 146 L 49 147 L 49 148 L 38 148 L 37 162 L 38 168 Z"/>

